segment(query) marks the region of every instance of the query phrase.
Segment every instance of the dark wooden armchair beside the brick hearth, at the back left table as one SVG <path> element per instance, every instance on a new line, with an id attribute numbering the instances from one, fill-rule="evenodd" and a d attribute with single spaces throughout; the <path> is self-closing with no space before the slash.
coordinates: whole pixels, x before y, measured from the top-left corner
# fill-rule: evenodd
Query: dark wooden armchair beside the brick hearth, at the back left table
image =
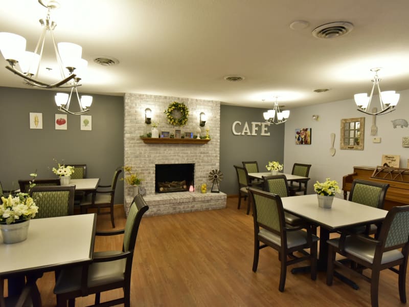
<path id="1" fill-rule="evenodd" d="M 81 213 L 87 213 L 88 209 L 96 208 L 98 214 L 110 214 L 112 228 L 115 228 L 113 201 L 115 200 L 115 189 L 121 172 L 122 168 L 118 167 L 113 172 L 111 185 L 98 185 L 97 190 L 87 195 L 86 199 L 80 203 Z M 109 210 L 101 211 L 101 208 L 108 208 Z"/>

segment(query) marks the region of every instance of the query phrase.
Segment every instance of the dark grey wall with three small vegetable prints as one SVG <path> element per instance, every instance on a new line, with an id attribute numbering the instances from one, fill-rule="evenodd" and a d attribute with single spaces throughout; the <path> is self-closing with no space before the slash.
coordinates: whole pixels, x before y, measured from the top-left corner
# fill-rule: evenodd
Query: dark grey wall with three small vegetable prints
<path id="1" fill-rule="evenodd" d="M 80 116 L 67 116 L 67 130 L 56 130 L 56 91 L 0 87 L 0 181 L 5 189 L 19 179 L 54 178 L 53 158 L 59 162 L 86 164 L 87 177 L 111 183 L 113 171 L 123 164 L 123 97 L 93 95 L 93 104 L 85 115 L 92 116 L 92 131 L 80 130 Z M 85 94 L 85 93 L 80 93 Z M 74 98 L 74 97 L 73 97 Z M 78 104 L 72 99 L 73 106 Z M 43 128 L 30 129 L 30 112 L 42 113 Z M 123 203 L 123 182 L 119 181 L 115 203 Z"/>

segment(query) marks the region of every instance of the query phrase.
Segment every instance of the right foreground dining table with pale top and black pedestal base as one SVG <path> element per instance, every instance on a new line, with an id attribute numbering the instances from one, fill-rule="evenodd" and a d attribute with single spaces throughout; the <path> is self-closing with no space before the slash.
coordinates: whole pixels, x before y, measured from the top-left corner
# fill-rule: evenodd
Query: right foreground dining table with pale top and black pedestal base
<path id="1" fill-rule="evenodd" d="M 335 196 L 331 208 L 319 207 L 317 194 L 289 196 L 281 198 L 281 201 L 285 211 L 300 216 L 311 225 L 320 226 L 320 250 L 317 262 L 319 271 L 327 270 L 327 240 L 331 232 L 342 231 L 348 227 L 381 223 L 388 213 L 387 210 L 361 205 Z M 338 277 L 343 279 L 341 276 Z M 357 289 L 356 284 L 348 280 L 344 281 Z"/>

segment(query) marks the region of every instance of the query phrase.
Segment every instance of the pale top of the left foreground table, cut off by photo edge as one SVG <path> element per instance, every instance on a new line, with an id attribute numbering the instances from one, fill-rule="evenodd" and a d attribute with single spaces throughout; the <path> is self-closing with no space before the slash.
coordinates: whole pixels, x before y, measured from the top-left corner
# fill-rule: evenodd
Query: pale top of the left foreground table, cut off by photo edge
<path id="1" fill-rule="evenodd" d="M 4 244 L 0 239 L 0 275 L 53 271 L 92 260 L 96 220 L 95 213 L 34 218 L 26 240 Z"/>

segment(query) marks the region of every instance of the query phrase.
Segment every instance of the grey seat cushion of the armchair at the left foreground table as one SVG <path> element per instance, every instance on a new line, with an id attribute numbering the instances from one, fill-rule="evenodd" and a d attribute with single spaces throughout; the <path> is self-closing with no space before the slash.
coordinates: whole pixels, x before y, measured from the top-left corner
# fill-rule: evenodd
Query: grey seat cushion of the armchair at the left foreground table
<path id="1" fill-rule="evenodd" d="M 95 252 L 94 258 L 120 254 L 121 251 Z M 126 259 L 107 262 L 93 262 L 88 269 L 88 287 L 123 281 Z M 64 269 L 55 284 L 54 294 L 81 291 L 82 267 Z"/>

